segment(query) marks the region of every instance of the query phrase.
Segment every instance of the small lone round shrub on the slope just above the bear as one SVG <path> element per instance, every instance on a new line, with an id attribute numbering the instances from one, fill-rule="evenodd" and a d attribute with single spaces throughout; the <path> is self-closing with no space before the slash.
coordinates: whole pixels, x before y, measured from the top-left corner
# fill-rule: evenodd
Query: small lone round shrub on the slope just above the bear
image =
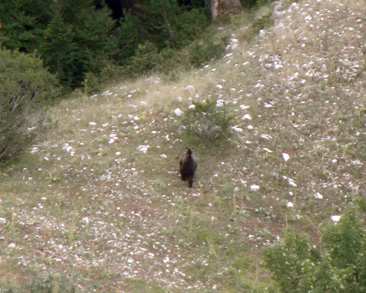
<path id="1" fill-rule="evenodd" d="M 193 102 L 193 105 L 182 119 L 188 140 L 219 144 L 230 137 L 233 117 L 225 113 L 224 106 L 218 107 L 214 100 Z"/>

